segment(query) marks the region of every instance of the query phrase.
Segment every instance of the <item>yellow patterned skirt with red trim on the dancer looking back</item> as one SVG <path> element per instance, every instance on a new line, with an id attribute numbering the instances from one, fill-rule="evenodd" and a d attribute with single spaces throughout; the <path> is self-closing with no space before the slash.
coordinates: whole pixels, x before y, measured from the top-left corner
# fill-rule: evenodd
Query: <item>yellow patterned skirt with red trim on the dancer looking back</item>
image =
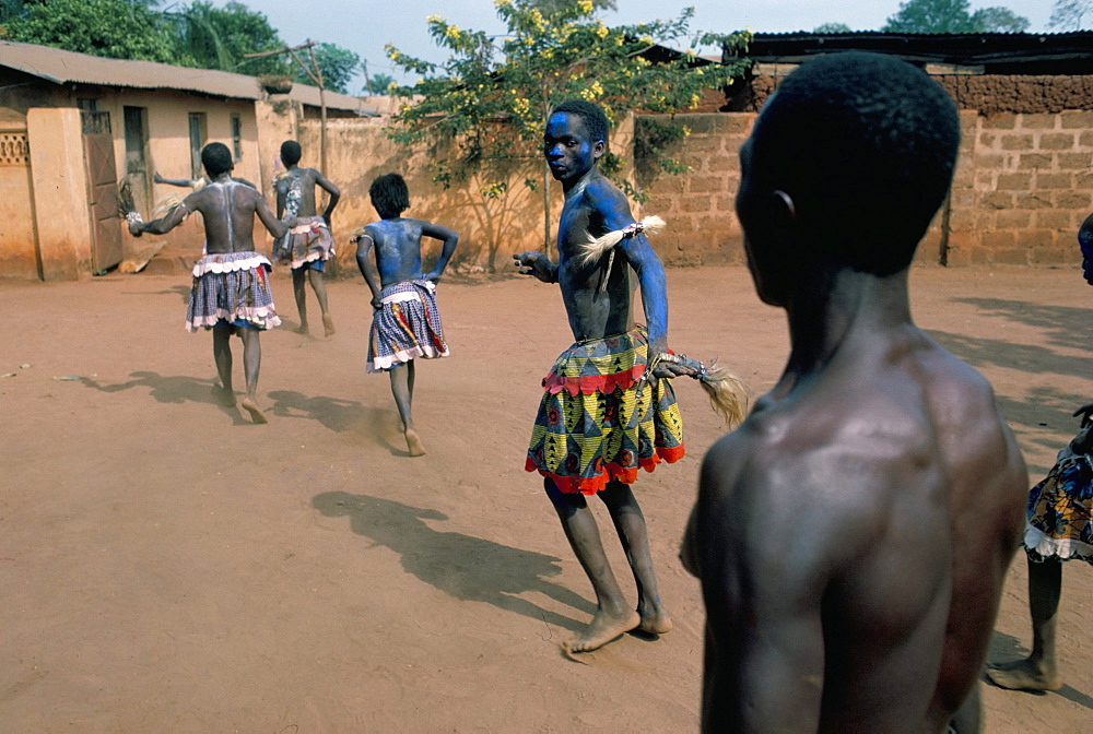
<path id="1" fill-rule="evenodd" d="M 543 396 L 525 467 L 559 489 L 593 495 L 638 467 L 683 457 L 683 422 L 666 379 L 650 383 L 644 327 L 578 342 L 543 378 Z"/>

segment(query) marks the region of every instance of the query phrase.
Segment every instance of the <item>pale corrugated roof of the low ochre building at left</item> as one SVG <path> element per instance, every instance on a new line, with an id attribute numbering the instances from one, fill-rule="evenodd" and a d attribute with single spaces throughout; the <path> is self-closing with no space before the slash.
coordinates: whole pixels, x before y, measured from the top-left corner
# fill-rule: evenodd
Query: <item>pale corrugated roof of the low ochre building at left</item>
<path id="1" fill-rule="evenodd" d="M 261 99 L 266 96 L 258 80 L 246 74 L 175 67 L 155 61 L 104 59 L 51 46 L 12 40 L 0 40 L 0 67 L 15 69 L 55 84 L 180 90 L 235 99 Z M 294 84 L 289 96 L 305 105 L 319 106 L 319 90 L 315 86 Z M 377 114 L 372 108 L 373 105 L 346 94 L 328 91 L 326 98 L 327 107 L 331 109 L 352 110 L 367 117 Z"/>

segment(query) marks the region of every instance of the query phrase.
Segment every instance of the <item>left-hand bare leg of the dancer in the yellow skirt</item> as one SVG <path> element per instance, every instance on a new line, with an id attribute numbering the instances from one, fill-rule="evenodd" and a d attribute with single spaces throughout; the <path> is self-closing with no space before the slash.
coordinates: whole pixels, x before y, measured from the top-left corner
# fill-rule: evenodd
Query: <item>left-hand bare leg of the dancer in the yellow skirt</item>
<path id="1" fill-rule="evenodd" d="M 571 652 L 596 650 L 640 625 L 642 618 L 630 608 L 619 588 L 603 552 L 596 518 L 588 509 L 584 495 L 562 492 L 550 480 L 544 480 L 543 486 L 562 521 L 569 546 L 596 593 L 596 616 L 584 635 L 566 643 L 566 649 Z"/>

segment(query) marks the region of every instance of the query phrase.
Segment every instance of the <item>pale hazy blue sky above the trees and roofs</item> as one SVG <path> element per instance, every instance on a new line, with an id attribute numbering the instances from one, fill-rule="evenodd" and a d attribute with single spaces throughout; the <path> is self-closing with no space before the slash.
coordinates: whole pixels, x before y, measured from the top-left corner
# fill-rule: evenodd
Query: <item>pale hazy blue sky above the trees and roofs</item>
<path id="1" fill-rule="evenodd" d="M 215 0 L 223 5 L 226 0 Z M 269 19 L 281 38 L 289 44 L 307 39 L 337 44 L 367 61 L 371 74 L 383 73 L 397 81 L 413 81 L 391 66 L 384 52 L 393 44 L 410 56 L 435 63 L 447 55 L 433 44 L 425 19 L 440 15 L 449 23 L 471 31 L 502 33 L 493 0 L 242 0 L 250 10 Z M 618 11 L 602 13 L 608 25 L 627 25 L 653 20 L 678 17 L 684 8 L 695 9 L 691 31 L 728 33 L 745 27 L 755 33 L 812 31 L 822 23 L 845 23 L 854 31 L 877 31 L 900 10 L 900 0 L 616 0 Z M 1027 17 L 1032 33 L 1047 32 L 1053 0 L 972 0 L 974 12 L 1001 5 Z M 700 49 L 713 51 L 714 49 Z M 355 79 L 351 94 L 359 94 L 363 75 Z"/>

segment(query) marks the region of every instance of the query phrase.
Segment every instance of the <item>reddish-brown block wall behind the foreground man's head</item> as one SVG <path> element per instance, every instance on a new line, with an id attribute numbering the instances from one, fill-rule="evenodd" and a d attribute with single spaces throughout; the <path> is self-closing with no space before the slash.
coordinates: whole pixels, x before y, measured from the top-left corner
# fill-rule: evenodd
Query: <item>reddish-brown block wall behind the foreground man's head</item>
<path id="1" fill-rule="evenodd" d="M 670 264 L 743 262 L 733 212 L 737 153 L 754 113 L 637 118 L 690 130 L 667 151 L 691 173 L 638 158 L 644 208 L 668 221 L 655 246 Z M 952 196 L 918 248 L 917 262 L 1078 265 L 1078 227 L 1093 211 L 1093 111 L 961 113 L 963 141 Z"/>

